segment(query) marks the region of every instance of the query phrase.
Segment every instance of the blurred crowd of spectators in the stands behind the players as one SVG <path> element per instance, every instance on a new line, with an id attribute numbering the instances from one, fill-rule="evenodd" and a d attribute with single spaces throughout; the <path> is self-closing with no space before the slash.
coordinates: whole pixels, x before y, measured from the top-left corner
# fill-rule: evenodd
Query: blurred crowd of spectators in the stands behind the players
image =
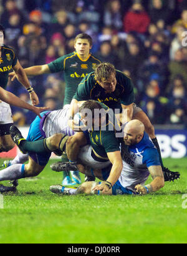
<path id="1" fill-rule="evenodd" d="M 0 0 L 6 45 L 23 67 L 47 64 L 74 51 L 74 38 L 92 36 L 91 52 L 132 78 L 136 103 L 153 124 L 186 124 L 186 0 Z M 62 73 L 29 77 L 40 106 L 60 109 Z M 24 101 L 19 82 L 7 89 Z M 34 114 L 12 107 L 14 121 L 31 124 Z"/>

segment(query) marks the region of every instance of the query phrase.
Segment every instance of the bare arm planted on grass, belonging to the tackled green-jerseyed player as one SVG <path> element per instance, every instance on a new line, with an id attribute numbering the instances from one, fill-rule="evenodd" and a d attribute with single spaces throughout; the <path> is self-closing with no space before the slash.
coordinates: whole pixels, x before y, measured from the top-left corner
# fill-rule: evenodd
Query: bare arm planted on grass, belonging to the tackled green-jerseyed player
<path id="1" fill-rule="evenodd" d="M 110 162 L 112 163 L 110 175 L 105 182 L 102 182 L 102 184 L 97 185 L 96 187 L 93 188 L 93 190 L 102 190 L 102 194 L 112 189 L 112 186 L 119 179 L 123 168 L 123 162 L 120 151 L 108 152 L 107 156 Z"/>

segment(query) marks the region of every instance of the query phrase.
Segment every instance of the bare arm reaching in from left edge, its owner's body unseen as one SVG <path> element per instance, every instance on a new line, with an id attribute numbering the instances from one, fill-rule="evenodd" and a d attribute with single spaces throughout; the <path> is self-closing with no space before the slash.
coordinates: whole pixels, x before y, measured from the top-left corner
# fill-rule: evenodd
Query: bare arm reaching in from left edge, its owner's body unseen
<path id="1" fill-rule="evenodd" d="M 10 104 L 16 107 L 22 107 L 24 109 L 29 109 L 30 111 L 33 111 L 35 114 L 37 114 L 37 116 L 39 117 L 41 117 L 39 113 L 47 109 L 47 107 L 32 106 L 27 102 L 22 101 L 21 99 L 19 99 L 19 97 L 12 94 L 11 92 L 8 92 L 2 89 L 2 87 L 0 87 L 0 99 L 6 102 L 7 104 Z"/>

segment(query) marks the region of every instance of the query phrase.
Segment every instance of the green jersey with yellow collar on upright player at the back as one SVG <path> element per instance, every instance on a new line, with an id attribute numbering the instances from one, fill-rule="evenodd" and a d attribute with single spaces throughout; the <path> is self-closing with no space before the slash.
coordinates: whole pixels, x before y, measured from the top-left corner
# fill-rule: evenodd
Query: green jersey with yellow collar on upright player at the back
<path id="1" fill-rule="evenodd" d="M 72 52 L 70 54 L 59 57 L 55 61 L 52 61 L 48 64 L 50 72 L 52 73 L 64 71 L 64 105 L 70 104 L 79 83 L 85 76 L 87 76 L 87 74 L 94 71 L 98 64 L 100 64 L 100 61 L 96 59 L 92 54 L 89 54 L 89 57 L 83 61 L 78 56 L 77 52 Z"/>

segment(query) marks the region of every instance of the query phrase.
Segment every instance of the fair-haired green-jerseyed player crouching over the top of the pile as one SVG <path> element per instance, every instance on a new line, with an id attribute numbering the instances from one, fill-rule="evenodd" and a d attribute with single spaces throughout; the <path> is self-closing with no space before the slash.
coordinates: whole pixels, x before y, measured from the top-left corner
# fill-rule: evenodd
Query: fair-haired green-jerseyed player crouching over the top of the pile
<path id="1" fill-rule="evenodd" d="M 82 82 L 80 82 L 77 92 L 70 104 L 69 126 L 74 127 L 73 117 L 79 111 L 77 102 L 93 99 L 103 102 L 110 107 L 115 113 L 120 112 L 120 122 L 125 124 L 132 119 L 138 119 L 143 122 L 145 131 L 150 136 L 153 144 L 155 144 L 160 156 L 161 167 L 163 171 L 168 171 L 163 166 L 161 159 L 160 147 L 155 136 L 155 129 L 151 124 L 145 112 L 136 106 L 133 94 L 133 84 L 129 77 L 115 69 L 115 67 L 107 62 L 103 62 L 97 66 L 94 72 L 88 74 Z M 72 140 L 72 143 L 75 143 Z M 71 147 L 71 145 L 69 144 Z M 75 160 L 72 156 L 69 160 Z"/>

